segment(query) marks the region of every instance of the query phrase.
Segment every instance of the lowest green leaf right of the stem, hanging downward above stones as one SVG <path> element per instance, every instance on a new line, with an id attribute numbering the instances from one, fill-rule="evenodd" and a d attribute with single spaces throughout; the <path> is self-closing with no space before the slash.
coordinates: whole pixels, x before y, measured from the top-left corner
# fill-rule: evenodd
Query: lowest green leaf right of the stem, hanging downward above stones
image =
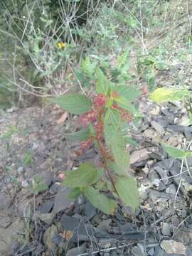
<path id="1" fill-rule="evenodd" d="M 130 206 L 133 211 L 136 210 L 139 206 L 137 181 L 132 177 L 117 177 L 114 185 L 126 206 Z"/>

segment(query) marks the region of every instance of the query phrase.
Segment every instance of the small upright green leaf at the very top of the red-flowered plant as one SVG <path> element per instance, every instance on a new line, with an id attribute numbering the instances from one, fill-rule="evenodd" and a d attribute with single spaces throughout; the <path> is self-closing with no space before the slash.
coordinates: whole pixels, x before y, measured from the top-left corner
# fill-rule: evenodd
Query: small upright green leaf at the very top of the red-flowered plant
<path id="1" fill-rule="evenodd" d="M 100 68 L 96 69 L 95 77 L 96 77 L 97 93 L 102 93 L 104 95 L 107 95 L 107 92 L 109 92 L 110 90 L 110 81 L 107 79 L 104 73 L 102 73 L 102 70 L 100 70 Z"/>

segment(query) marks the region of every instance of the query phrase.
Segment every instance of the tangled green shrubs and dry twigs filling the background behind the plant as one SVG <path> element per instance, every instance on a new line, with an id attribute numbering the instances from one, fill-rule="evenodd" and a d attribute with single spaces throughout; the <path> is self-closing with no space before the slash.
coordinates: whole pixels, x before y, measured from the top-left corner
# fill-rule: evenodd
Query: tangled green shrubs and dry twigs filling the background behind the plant
<path id="1" fill-rule="evenodd" d="M 127 82 L 156 87 L 159 70 L 190 65 L 190 11 L 188 1 L 177 0 L 2 1 L 1 107 L 89 92 L 90 70 L 113 67 L 127 48 Z"/>

